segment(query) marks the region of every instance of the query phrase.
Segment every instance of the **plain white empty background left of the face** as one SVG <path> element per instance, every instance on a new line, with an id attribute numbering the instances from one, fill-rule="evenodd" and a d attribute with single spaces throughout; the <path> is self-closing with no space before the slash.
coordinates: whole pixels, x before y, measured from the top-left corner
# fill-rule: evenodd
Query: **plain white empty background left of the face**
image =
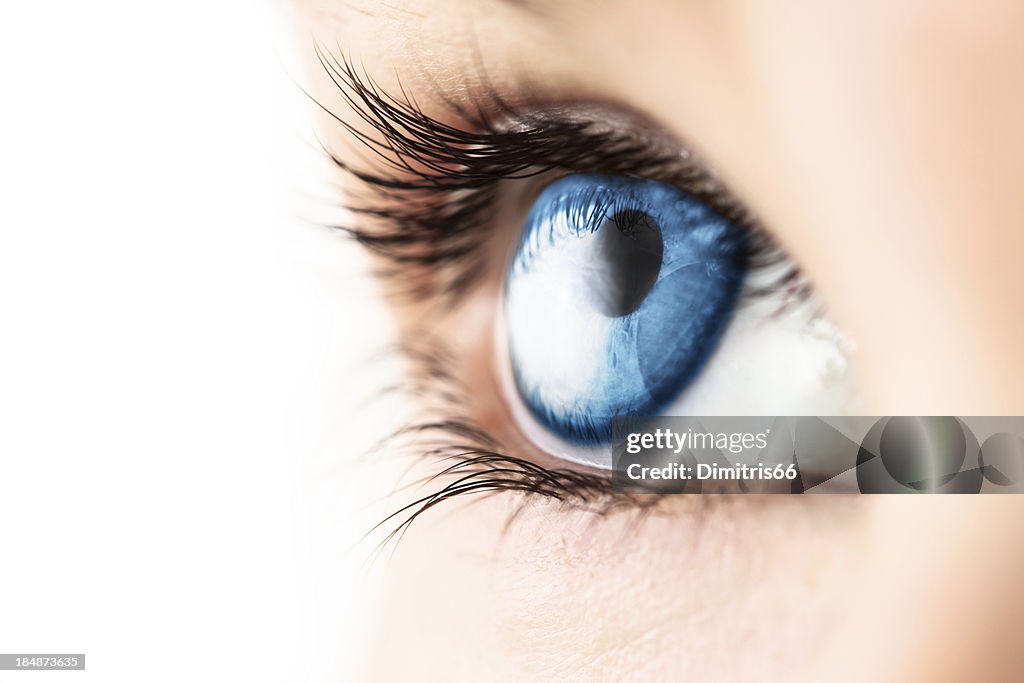
<path id="1" fill-rule="evenodd" d="M 281 5 L 0 10 L 0 652 L 87 655 L 0 681 L 298 681 L 354 642 L 305 479 L 372 306 L 298 219 Z"/>

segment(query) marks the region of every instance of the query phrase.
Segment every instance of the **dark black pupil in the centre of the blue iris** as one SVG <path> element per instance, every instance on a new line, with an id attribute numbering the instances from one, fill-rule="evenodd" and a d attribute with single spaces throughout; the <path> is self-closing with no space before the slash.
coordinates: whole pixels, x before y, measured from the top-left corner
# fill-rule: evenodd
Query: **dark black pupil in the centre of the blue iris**
<path id="1" fill-rule="evenodd" d="M 662 269 L 662 228 L 642 211 L 621 211 L 594 234 L 598 267 L 585 271 L 594 305 L 608 317 L 640 307 Z"/>

